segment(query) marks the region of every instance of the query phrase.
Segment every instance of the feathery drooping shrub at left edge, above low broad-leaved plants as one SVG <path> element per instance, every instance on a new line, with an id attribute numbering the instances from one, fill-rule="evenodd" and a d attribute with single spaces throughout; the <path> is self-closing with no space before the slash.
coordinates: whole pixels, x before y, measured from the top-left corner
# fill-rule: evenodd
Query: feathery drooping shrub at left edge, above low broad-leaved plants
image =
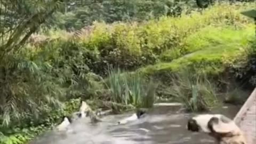
<path id="1" fill-rule="evenodd" d="M 51 69 L 49 63 L 30 60 L 26 54 L 13 56 L 0 64 L 0 123 L 5 126 L 19 124 L 25 113 L 37 119 L 44 107 L 61 107 L 63 98 L 59 83 L 52 82 L 56 78 L 45 73 Z"/>

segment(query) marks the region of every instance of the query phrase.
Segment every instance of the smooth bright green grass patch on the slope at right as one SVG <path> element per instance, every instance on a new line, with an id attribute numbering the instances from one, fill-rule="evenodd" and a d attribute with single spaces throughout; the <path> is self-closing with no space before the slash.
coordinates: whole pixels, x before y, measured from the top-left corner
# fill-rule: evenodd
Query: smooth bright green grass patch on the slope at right
<path id="1" fill-rule="evenodd" d="M 248 25 L 243 29 L 233 27 L 206 27 L 186 39 L 188 54 L 171 62 L 159 62 L 139 69 L 142 74 L 154 75 L 161 71 L 178 71 L 189 66 L 206 73 L 220 73 L 225 67 L 225 59 L 235 59 L 237 53 L 254 37 L 254 27 Z"/>

